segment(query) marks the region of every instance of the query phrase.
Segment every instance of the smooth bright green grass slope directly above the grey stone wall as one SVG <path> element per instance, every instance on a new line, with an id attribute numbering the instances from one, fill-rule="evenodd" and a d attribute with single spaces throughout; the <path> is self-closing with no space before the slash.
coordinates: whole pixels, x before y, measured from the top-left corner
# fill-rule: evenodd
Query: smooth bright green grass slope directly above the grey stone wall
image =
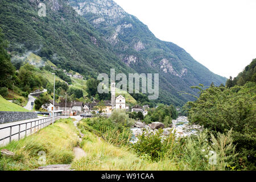
<path id="1" fill-rule="evenodd" d="M 0 111 L 29 112 L 29 110 L 5 100 L 2 96 L 0 96 Z"/>

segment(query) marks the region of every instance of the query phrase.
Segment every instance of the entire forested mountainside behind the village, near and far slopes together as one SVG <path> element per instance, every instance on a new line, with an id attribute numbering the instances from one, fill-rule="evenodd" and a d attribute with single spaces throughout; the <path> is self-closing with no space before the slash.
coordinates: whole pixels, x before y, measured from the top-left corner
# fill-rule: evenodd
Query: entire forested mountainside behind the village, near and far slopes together
<path id="1" fill-rule="evenodd" d="M 181 106 L 196 94 L 189 86 L 224 84 L 184 49 L 157 39 L 135 16 L 110 0 L 48 0 L 46 17 L 39 0 L 0 2 L 0 27 L 13 55 L 33 52 L 59 68 L 85 78 L 98 73 L 159 73 L 156 102 Z"/>

